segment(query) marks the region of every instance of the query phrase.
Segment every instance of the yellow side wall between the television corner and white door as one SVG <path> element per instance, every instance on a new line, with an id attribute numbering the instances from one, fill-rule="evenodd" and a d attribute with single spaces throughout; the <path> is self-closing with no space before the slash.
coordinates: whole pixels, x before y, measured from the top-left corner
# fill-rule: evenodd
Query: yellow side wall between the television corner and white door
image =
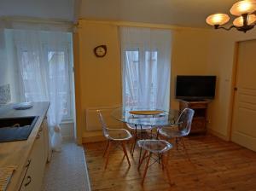
<path id="1" fill-rule="evenodd" d="M 256 39 L 256 31 L 214 31 L 209 37 L 207 73 L 217 75 L 216 97 L 210 104 L 208 128 L 217 136 L 230 140 L 232 117 L 233 74 L 236 74 L 236 42 Z M 256 50 L 255 50 L 256 52 Z M 255 80 L 256 78 L 252 79 Z"/>

